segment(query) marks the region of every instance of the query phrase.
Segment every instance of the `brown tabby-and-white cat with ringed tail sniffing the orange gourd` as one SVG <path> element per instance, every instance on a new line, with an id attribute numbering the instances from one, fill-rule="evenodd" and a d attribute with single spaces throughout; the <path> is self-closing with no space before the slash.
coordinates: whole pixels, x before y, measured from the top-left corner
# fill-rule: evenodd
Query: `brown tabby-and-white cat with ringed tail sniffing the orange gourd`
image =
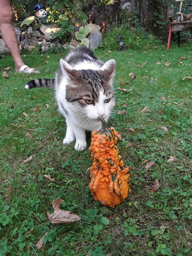
<path id="1" fill-rule="evenodd" d="M 59 112 L 65 117 L 67 129 L 63 143 L 75 140 L 75 149 L 86 148 L 85 131 L 101 128 L 98 116 L 108 120 L 114 106 L 113 78 L 115 60 L 104 63 L 85 47 L 74 48 L 63 59 L 55 79 L 29 81 L 26 89 L 54 88 Z"/>

